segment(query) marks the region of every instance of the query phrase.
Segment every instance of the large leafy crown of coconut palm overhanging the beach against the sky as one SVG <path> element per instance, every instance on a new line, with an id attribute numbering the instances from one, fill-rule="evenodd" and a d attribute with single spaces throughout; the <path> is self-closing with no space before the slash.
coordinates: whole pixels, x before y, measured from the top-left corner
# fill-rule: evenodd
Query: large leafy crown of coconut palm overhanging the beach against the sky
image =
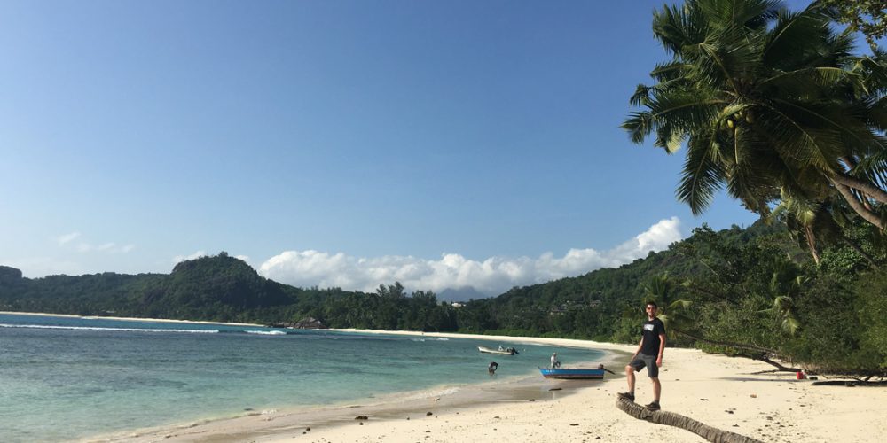
<path id="1" fill-rule="evenodd" d="M 654 13 L 671 61 L 625 120 L 632 141 L 687 145 L 678 198 L 694 214 L 726 190 L 758 214 L 781 194 L 840 196 L 887 229 L 887 56 L 854 57 L 830 10 L 777 0 L 687 0 Z"/>

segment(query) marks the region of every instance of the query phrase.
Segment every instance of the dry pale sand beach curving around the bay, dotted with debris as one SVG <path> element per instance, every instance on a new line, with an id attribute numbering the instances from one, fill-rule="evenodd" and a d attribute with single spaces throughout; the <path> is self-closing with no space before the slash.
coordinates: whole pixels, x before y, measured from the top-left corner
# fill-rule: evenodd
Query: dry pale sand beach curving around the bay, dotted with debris
<path id="1" fill-rule="evenodd" d="M 389 333 L 387 331 L 361 332 Z M 398 332 L 428 337 L 502 340 L 491 336 Z M 622 374 L 635 346 L 584 340 L 507 338 L 555 346 L 615 351 L 608 368 L 616 376 L 595 381 L 553 381 L 505 386 L 503 395 L 486 386 L 460 401 L 443 395 L 374 405 L 312 411 L 265 411 L 254 416 L 175 428 L 130 432 L 126 441 L 259 442 L 464 442 L 464 441 L 704 441 L 670 426 L 650 424 L 616 408 L 625 390 Z M 887 390 L 878 387 L 813 386 L 792 374 L 756 374 L 769 365 L 746 359 L 667 348 L 660 378 L 662 408 L 719 429 L 763 441 L 880 441 L 887 434 Z M 501 386 L 500 386 L 501 388 Z M 561 388 L 558 390 L 557 388 Z M 638 403 L 647 403 L 651 386 L 640 373 Z M 430 413 L 430 414 L 429 414 Z M 356 420 L 366 416 L 365 420 Z"/>

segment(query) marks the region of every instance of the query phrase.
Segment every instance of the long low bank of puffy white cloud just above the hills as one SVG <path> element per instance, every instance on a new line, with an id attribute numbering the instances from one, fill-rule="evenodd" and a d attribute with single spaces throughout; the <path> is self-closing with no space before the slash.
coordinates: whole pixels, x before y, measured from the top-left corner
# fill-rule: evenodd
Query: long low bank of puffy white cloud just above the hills
<path id="1" fill-rule="evenodd" d="M 457 253 L 444 253 L 440 260 L 423 260 L 411 256 L 356 258 L 344 253 L 308 250 L 279 253 L 262 263 L 258 271 L 272 280 L 301 287 L 374 291 L 380 284 L 399 281 L 409 291 L 472 286 L 486 294 L 498 295 L 512 286 L 580 276 L 594 269 L 630 263 L 680 240 L 679 228 L 678 217 L 671 217 L 609 251 L 570 249 L 562 257 L 543 253 L 537 259 L 491 257 L 477 261 Z"/>

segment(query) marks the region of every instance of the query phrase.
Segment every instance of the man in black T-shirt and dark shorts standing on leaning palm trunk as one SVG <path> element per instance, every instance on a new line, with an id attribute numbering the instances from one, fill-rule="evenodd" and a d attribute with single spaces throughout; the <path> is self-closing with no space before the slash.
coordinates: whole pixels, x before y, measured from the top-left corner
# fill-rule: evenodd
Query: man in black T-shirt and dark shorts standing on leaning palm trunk
<path id="1" fill-rule="evenodd" d="M 619 394 L 620 398 L 634 401 L 634 373 L 647 367 L 647 375 L 653 382 L 653 402 L 645 408 L 659 410 L 659 395 L 662 393 L 662 385 L 659 383 L 659 367 L 663 365 L 663 351 L 665 350 L 665 325 L 662 320 L 656 318 L 659 307 L 655 302 L 647 303 L 647 322 L 641 331 L 638 350 L 632 355 L 632 361 L 625 367 L 625 377 L 628 378 L 628 392 Z"/>

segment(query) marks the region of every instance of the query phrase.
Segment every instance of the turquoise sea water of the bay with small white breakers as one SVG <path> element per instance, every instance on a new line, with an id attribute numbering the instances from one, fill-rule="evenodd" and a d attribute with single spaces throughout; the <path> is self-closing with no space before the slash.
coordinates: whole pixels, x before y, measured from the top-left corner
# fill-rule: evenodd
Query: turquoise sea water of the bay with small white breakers
<path id="1" fill-rule="evenodd" d="M 514 346 L 516 356 L 476 346 Z M 224 324 L 0 315 L 0 440 L 82 439 L 109 432 L 330 406 L 391 392 L 449 392 L 538 377 L 552 352 L 593 350 L 491 342 L 275 330 Z"/>

